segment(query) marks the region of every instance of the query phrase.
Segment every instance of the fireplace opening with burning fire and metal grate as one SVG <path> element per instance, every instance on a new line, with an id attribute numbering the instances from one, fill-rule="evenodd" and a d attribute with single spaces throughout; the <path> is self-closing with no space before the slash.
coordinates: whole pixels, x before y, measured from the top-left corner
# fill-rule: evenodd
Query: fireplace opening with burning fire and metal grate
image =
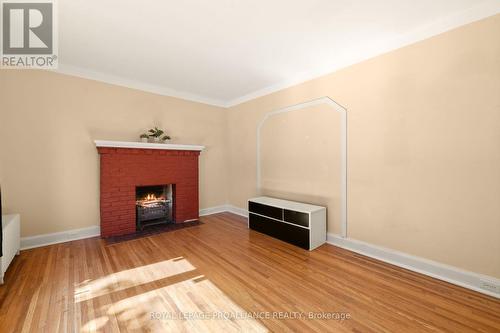
<path id="1" fill-rule="evenodd" d="M 137 230 L 147 226 L 174 223 L 174 186 L 139 186 L 135 190 Z"/>

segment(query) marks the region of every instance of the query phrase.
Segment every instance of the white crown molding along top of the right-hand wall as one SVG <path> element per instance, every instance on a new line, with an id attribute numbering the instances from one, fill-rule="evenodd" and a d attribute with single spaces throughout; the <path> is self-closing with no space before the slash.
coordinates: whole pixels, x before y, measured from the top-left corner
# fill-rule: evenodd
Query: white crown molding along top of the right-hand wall
<path id="1" fill-rule="evenodd" d="M 474 6 L 468 10 L 444 17 L 438 21 L 433 22 L 432 24 L 420 27 L 419 29 L 415 29 L 409 33 L 402 34 L 397 38 L 379 41 L 377 45 L 372 46 L 369 50 L 355 50 L 349 56 L 344 57 L 345 60 L 342 62 L 331 64 L 330 66 L 326 66 L 316 71 L 298 74 L 291 80 L 284 80 L 271 86 L 253 91 L 244 96 L 227 101 L 225 103 L 226 107 L 230 108 L 238 104 L 242 104 L 253 99 L 331 74 L 340 69 L 397 50 L 404 46 L 420 42 L 427 38 L 431 38 L 441 33 L 459 28 L 460 26 L 464 26 L 466 24 L 479 21 L 490 16 L 494 16 L 498 13 L 500 13 L 500 1 L 488 1 L 486 3 Z"/>

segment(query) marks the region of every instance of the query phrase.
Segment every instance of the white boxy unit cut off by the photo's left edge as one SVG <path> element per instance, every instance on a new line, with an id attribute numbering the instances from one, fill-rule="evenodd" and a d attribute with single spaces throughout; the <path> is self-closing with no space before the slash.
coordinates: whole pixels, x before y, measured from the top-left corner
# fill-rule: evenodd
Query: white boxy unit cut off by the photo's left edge
<path id="1" fill-rule="evenodd" d="M 2 215 L 2 253 L 0 257 L 1 275 L 0 284 L 3 284 L 3 277 L 7 268 L 21 248 L 21 218 L 18 214 Z"/>

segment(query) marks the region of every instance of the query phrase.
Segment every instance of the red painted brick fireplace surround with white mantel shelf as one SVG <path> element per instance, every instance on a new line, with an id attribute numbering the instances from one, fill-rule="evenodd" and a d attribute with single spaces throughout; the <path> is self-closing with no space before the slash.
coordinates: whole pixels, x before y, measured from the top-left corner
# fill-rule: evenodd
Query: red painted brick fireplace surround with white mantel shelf
<path id="1" fill-rule="evenodd" d="M 198 156 L 203 146 L 96 141 L 101 166 L 101 236 L 137 231 L 138 188 L 169 184 L 173 223 L 198 219 Z"/>

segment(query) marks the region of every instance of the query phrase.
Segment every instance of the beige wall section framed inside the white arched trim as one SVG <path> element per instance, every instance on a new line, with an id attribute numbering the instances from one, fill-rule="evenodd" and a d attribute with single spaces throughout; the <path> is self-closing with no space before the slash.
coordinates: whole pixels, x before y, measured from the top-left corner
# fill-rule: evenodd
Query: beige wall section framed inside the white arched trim
<path id="1" fill-rule="evenodd" d="M 341 115 L 321 104 L 279 113 L 260 131 L 261 195 L 327 206 L 341 231 Z"/>

